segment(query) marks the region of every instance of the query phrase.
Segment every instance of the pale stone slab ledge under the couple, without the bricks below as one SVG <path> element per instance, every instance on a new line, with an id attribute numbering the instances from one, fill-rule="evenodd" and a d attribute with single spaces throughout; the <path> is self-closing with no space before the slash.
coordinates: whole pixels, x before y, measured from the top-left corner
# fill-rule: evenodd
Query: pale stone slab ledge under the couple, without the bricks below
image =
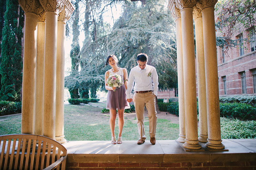
<path id="1" fill-rule="evenodd" d="M 182 162 L 255 162 L 256 139 L 224 139 L 228 151 L 185 151 L 175 140 L 157 140 L 156 145 L 146 141 L 69 141 L 68 163 L 182 163 Z M 200 143 L 203 148 L 204 143 Z"/>

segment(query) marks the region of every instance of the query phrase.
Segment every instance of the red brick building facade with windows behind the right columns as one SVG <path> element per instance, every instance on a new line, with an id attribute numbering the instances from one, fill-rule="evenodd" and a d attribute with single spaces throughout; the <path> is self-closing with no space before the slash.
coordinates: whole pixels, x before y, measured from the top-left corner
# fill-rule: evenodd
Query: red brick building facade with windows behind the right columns
<path id="1" fill-rule="evenodd" d="M 216 36 L 221 36 L 217 33 Z M 252 42 L 243 42 L 243 39 Z M 220 96 L 256 95 L 256 42 L 255 33 L 244 31 L 235 35 L 237 45 L 224 52 L 217 46 Z"/>

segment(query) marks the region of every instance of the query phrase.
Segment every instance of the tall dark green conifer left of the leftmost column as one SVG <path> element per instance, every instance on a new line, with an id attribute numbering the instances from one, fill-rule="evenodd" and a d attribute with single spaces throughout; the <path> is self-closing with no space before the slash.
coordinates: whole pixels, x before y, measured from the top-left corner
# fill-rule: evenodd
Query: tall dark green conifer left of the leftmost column
<path id="1" fill-rule="evenodd" d="M 20 21 L 20 19 L 20 7 L 18 1 L 7 0 L 6 12 L 4 13 L 4 27 L 0 65 L 0 73 L 2 75 L 2 87 L 0 91 L 1 100 L 17 101 L 21 99 L 21 37 L 23 36 L 23 22 L 18 22 Z"/>

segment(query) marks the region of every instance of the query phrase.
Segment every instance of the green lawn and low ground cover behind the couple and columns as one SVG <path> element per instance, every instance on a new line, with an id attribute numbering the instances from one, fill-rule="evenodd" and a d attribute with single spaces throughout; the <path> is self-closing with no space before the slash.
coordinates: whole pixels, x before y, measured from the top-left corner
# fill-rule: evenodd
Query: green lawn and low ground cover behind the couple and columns
<path id="1" fill-rule="evenodd" d="M 111 139 L 109 113 L 101 113 L 102 108 L 89 105 L 64 106 L 64 135 L 68 141 Z M 240 121 L 220 118 L 222 139 L 256 138 L 256 121 Z M 125 115 L 123 140 L 138 140 L 136 116 Z M 148 118 L 144 120 L 146 137 Z M 0 135 L 21 133 L 21 115 L 0 117 Z M 118 122 L 116 119 L 116 136 Z M 169 120 L 157 119 L 156 139 L 175 140 L 179 137 L 179 125 Z"/>

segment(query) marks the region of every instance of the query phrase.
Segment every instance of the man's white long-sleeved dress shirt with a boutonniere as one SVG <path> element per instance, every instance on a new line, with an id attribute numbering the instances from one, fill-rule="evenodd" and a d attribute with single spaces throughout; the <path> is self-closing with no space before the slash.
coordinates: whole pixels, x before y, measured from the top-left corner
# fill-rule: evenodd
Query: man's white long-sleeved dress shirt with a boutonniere
<path id="1" fill-rule="evenodd" d="M 131 72 L 128 77 L 126 99 L 132 98 L 131 92 L 134 81 L 134 91 L 152 90 L 154 91 L 154 95 L 157 95 L 159 83 L 155 67 L 146 65 L 146 67 L 143 70 L 140 69 L 139 66 L 135 66 L 131 69 Z"/>

